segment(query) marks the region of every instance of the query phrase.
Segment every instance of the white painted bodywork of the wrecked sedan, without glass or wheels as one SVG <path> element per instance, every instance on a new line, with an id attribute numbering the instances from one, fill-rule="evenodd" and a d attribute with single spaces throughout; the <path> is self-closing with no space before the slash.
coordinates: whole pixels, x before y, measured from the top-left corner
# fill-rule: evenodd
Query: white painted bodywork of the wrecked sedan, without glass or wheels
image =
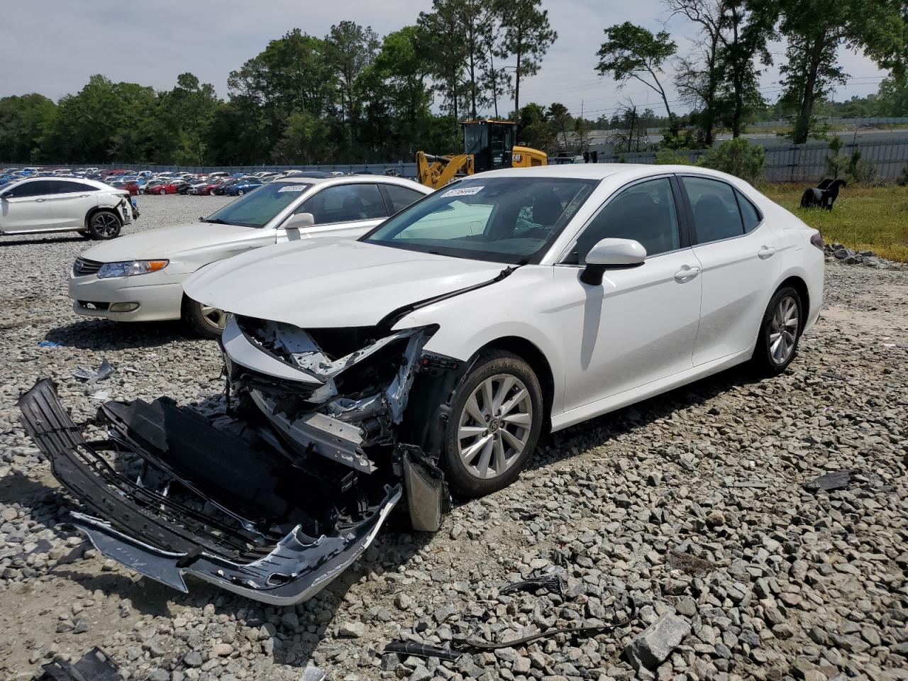
<path id="1" fill-rule="evenodd" d="M 808 291 L 804 328 L 816 320 L 824 267 L 823 252 L 809 243 L 816 232 L 749 184 L 686 166 L 568 165 L 488 175 L 527 173 L 601 183 L 539 264 L 518 267 L 501 281 L 491 282 L 508 268 L 503 263 L 326 240 L 244 254 L 193 275 L 185 289 L 224 310 L 301 329 L 370 326 L 403 309 L 393 330 L 437 325 L 424 350 L 460 361 L 496 341 L 528 342 L 551 371 L 552 429 L 747 360 L 769 299 L 790 277 Z M 629 183 L 671 173 L 733 184 L 763 212 L 764 223 L 740 237 L 606 271 L 601 286 L 579 281 L 582 267 L 559 264 L 609 197 Z M 772 254 L 761 257 L 767 250 Z M 481 283 L 488 285 L 456 292 Z"/>

